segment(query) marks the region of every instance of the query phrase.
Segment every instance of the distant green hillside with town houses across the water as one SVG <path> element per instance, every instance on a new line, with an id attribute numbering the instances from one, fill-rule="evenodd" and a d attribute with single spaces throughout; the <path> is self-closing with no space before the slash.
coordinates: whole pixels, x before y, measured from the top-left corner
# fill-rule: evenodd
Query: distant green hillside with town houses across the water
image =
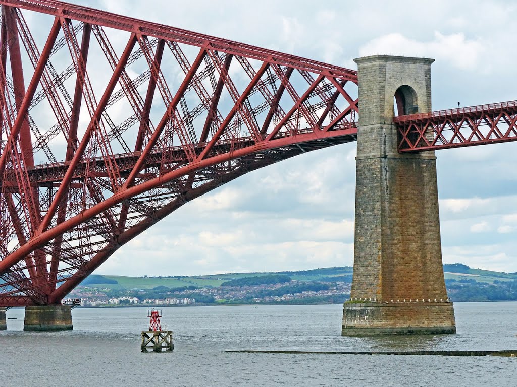
<path id="1" fill-rule="evenodd" d="M 444 271 L 447 293 L 453 301 L 517 299 L 517 273 L 473 269 L 463 264 L 444 265 Z M 124 286 L 118 282 L 121 279 Z M 165 285 L 157 285 L 161 283 Z M 69 297 L 80 299 L 83 307 L 324 304 L 343 303 L 351 286 L 351 267 L 201 277 L 92 275 Z"/>

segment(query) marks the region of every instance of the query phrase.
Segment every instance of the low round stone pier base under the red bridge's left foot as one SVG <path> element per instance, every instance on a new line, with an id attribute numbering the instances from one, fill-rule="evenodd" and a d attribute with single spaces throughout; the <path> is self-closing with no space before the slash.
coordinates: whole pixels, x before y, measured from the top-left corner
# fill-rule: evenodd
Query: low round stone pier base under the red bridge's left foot
<path id="1" fill-rule="evenodd" d="M 24 331 L 69 331 L 72 329 L 72 308 L 68 305 L 25 307 Z"/>

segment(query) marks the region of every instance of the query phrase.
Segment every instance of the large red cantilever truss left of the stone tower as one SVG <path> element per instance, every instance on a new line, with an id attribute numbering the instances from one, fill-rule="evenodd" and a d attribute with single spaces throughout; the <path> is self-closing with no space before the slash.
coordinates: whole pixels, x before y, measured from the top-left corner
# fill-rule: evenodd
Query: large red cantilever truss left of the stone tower
<path id="1" fill-rule="evenodd" d="M 148 33 L 147 25 L 157 26 L 153 23 L 142 22 L 145 25 L 136 28 L 135 25 L 129 26 L 121 23 L 121 20 L 131 20 L 129 18 L 66 3 L 56 1 L 3 2 L 0 0 L 0 4 L 4 5 L 12 6 L 12 3 L 36 12 L 54 14 L 52 12 L 57 10 L 56 20 L 59 20 L 65 37 L 51 43 L 50 54 L 47 49 L 49 40 L 39 56 L 30 31 L 27 32 L 28 28 L 23 31 L 24 42 L 28 44 L 25 45 L 26 50 L 30 53 L 34 51 L 31 59 L 36 68 L 32 76 L 33 80 L 27 87 L 22 104 L 18 109 L 21 112 L 24 110 L 28 112 L 43 98 L 41 92 L 38 95 L 32 92 L 34 82 L 39 84 L 38 87 L 43 87 L 42 91 L 50 100 L 52 109 L 54 112 L 59 112 L 60 115 L 59 117 L 56 115 L 57 126 L 52 126 L 41 135 L 35 126 L 36 123 L 33 122 L 33 117 L 27 114 L 31 130 L 37 137 L 36 144 L 33 144 L 32 148 L 37 150 L 43 147 L 45 149 L 50 139 L 55 137 L 59 126 L 64 124 L 66 130 L 62 132 L 66 140 L 67 155 L 64 163 L 54 163 L 54 157 L 48 156 L 49 161 L 53 164 L 29 166 L 28 168 L 26 163 L 22 164 L 14 159 L 14 157 L 20 156 L 16 151 L 4 149 L 0 155 L 0 167 L 7 169 L 2 174 L 3 181 L 0 182 L 2 192 L 14 195 L 20 201 L 19 204 L 16 204 L 16 212 L 21 214 L 22 222 L 26 222 L 27 208 L 31 207 L 31 203 L 27 204 L 26 200 L 23 200 L 23 198 L 27 198 L 24 193 L 27 189 L 39 187 L 41 211 L 46 214 L 36 233 L 28 225 L 21 224 L 19 229 L 24 238 L 19 245 L 22 246 L 14 247 L 10 251 L 10 255 L 7 249 L 2 253 L 0 275 L 3 272 L 5 278 L 11 278 L 9 283 L 12 283 L 13 286 L 16 285 L 15 289 L 19 289 L 20 292 L 18 290 L 10 291 L 10 287 L 0 284 L 0 297 L 18 296 L 25 293 L 32 299 L 32 302 L 41 303 L 45 301 L 41 301 L 41 297 L 34 292 L 43 291 L 44 295 L 49 296 L 47 303 L 58 302 L 67 291 L 79 283 L 77 281 L 87 276 L 121 244 L 138 235 L 148 225 L 154 224 L 169 210 L 172 212 L 177 206 L 191 200 L 195 197 L 194 192 L 201 195 L 206 192 L 203 189 L 224 184 L 225 181 L 221 180 L 221 176 L 231 173 L 236 166 L 244 168 L 246 173 L 246 171 L 261 168 L 261 166 L 302 152 L 353 141 L 356 138 L 357 130 L 353 121 L 355 121 L 357 111 L 357 100 L 353 101 L 343 90 L 343 85 L 348 80 L 357 83 L 357 74 L 351 70 L 223 39 L 211 39 L 210 37 L 208 38 L 211 40 L 205 39 L 207 37 L 200 34 L 164 26 L 162 27 L 165 29 L 160 29 L 161 27 L 158 26 L 160 28 L 157 31 L 160 34 L 167 34 L 171 31 L 178 33 L 179 31 L 179 33 L 184 32 L 198 38 L 201 37 L 201 40 L 196 43 L 196 41 L 189 40 L 190 38 L 185 40 L 180 36 L 178 39 L 171 39 L 168 35 L 165 39 L 159 38 L 162 40 L 158 44 L 157 53 L 153 53 L 151 48 L 156 45 L 157 41 L 149 42 L 147 36 L 163 36 L 163 34 L 155 34 L 153 31 Z M 46 10 L 42 10 L 41 7 L 45 4 L 50 5 L 51 8 L 54 7 L 54 11 L 48 12 L 48 7 L 45 8 Z M 71 13 L 70 7 L 73 8 L 72 11 L 79 10 L 83 14 Z M 92 14 L 88 13 L 89 11 L 97 12 L 94 18 L 92 18 Z M 18 14 L 22 18 L 19 11 Z M 103 24 L 103 18 L 107 15 L 114 18 L 111 24 Z M 83 28 L 81 49 L 78 44 L 79 32 L 76 31 L 79 28 L 77 25 L 73 26 L 70 20 L 81 21 L 80 25 L 87 24 L 86 28 Z M 56 21 L 54 23 L 54 29 L 59 29 Z M 85 40 L 89 40 L 90 24 L 97 33 L 96 38 L 113 70 L 108 86 L 100 90 L 102 98 L 99 104 L 95 101 L 94 90 L 89 84 L 88 70 L 84 70 L 88 47 L 92 44 L 85 42 Z M 118 61 L 115 47 L 111 47 L 111 43 L 103 34 L 100 26 L 131 32 L 126 50 Z M 51 30 L 51 37 L 53 32 Z M 0 40 L 5 46 L 6 30 L 3 29 L 2 33 L 4 36 Z M 130 54 L 137 41 L 140 43 L 143 54 L 139 54 L 138 50 L 134 54 Z M 201 46 L 202 50 L 198 58 L 191 64 L 177 43 Z M 56 81 L 56 78 L 61 75 L 57 75 L 49 61 L 52 53 L 66 44 L 71 54 L 72 65 L 65 70 L 63 79 L 68 78 L 69 73 L 77 76 L 73 101 L 66 90 L 63 92 L 61 81 Z M 165 81 L 166 77 L 160 72 L 160 56 L 163 53 L 164 44 L 171 49 L 178 65 L 185 73 L 184 82 L 179 89 L 174 83 L 168 85 Z M 221 50 L 219 48 L 221 44 L 226 44 L 226 49 Z M 145 70 L 136 79 L 129 79 L 126 71 L 131 70 L 128 66 L 134 61 L 130 58 L 138 58 L 142 55 L 145 55 L 149 70 Z M 40 57 L 39 63 L 38 56 Z M 46 69 L 43 58 L 48 65 Z M 260 59 L 261 63 L 251 66 L 252 61 L 249 59 Z M 1 61 L 5 62 L 5 56 L 2 56 Z M 230 65 L 233 68 L 234 64 L 237 67 L 240 65 L 245 70 L 250 78 L 249 83 L 246 82 L 243 85 L 241 80 L 239 83 L 235 83 L 236 79 L 231 79 L 229 68 Z M 197 71 L 198 69 L 199 71 Z M 340 69 L 344 71 L 340 72 Z M 47 72 L 50 73 L 50 77 Z M 308 85 L 305 87 L 303 81 L 300 83 L 295 79 L 294 83 L 290 82 L 290 75 L 298 75 L 298 73 L 307 81 Z M 144 77 L 145 74 L 148 75 Z M 30 75 L 30 73 L 24 74 L 25 79 L 30 79 Z M 149 76 L 151 79 L 149 79 L 147 93 L 141 95 L 139 91 L 136 91 L 136 87 L 141 84 L 141 81 L 137 79 L 148 79 Z M 208 79 L 208 77 L 210 78 Z M 210 80 L 211 89 L 205 82 L 207 80 Z M 7 84 L 9 92 L 12 92 L 13 86 L 9 85 L 13 82 L 8 78 L 5 80 L 5 77 L 1 81 L 2 85 Z M 115 83 L 120 84 L 121 90 L 113 94 L 112 98 Z M 174 89 L 170 89 L 172 85 L 174 85 Z M 155 88 L 159 89 L 162 94 L 165 107 L 169 107 L 156 129 L 149 120 L 149 108 L 161 105 L 152 99 Z M 55 89 L 55 93 L 52 94 L 53 89 Z M 225 95 L 229 93 L 233 100 L 233 104 L 229 106 L 230 112 L 226 110 L 226 106 L 219 106 L 219 98 L 222 96 L 223 90 Z M 240 90 L 244 91 L 240 92 Z M 126 103 L 131 104 L 134 116 L 116 126 L 111 121 L 106 109 L 118 101 L 119 94 L 127 98 Z M 199 96 L 201 103 L 197 101 L 196 107 L 189 108 L 186 101 L 189 95 L 193 94 Z M 288 95 L 284 96 L 284 102 L 279 103 L 283 94 Z M 4 95 L 8 95 L 8 93 L 6 92 Z M 70 112 L 65 111 L 62 114 L 62 108 L 54 109 L 54 105 L 56 105 L 53 104 L 54 97 L 58 95 L 59 98 L 62 95 L 67 100 L 67 105 L 71 108 Z M 337 101 L 339 96 L 350 104 L 348 107 L 345 105 L 342 111 L 340 109 L 343 101 Z M 30 102 L 31 99 L 33 103 Z M 85 107 L 88 109 L 89 124 L 81 127 L 81 129 L 86 129 L 86 132 L 79 142 L 75 133 L 77 133 L 77 117 L 80 112 L 81 99 L 84 100 Z M 290 100 L 294 104 L 293 109 L 291 109 L 293 105 Z M 24 104 L 28 109 L 23 106 Z M 176 109 L 176 105 L 179 110 Z M 3 104 L 2 107 L 4 106 L 7 105 Z M 283 108 L 286 108 L 288 112 L 286 113 Z M 204 120 L 205 125 L 199 127 L 199 129 L 203 129 L 201 130 L 202 138 L 197 140 L 192 122 L 203 112 L 206 112 L 207 118 Z M 224 116 L 221 115 L 221 112 L 224 112 Z M 130 114 L 132 115 L 132 112 Z M 265 121 L 262 121 L 264 117 Z M 135 141 L 135 152 L 130 152 L 120 134 L 131 125 L 138 123 L 139 118 L 142 119 L 139 124 L 140 139 Z M 300 123 L 300 119 L 306 122 Z M 324 124 L 326 120 L 329 120 L 330 123 Z M 103 121 L 108 123 L 111 132 L 105 130 Z M 270 125 L 271 123 L 272 125 Z M 47 124 L 43 123 L 43 126 Z M 17 125 L 18 123 L 14 123 L 14 126 Z M 252 133 L 252 136 L 242 137 L 240 134 L 242 130 L 245 133 L 247 130 Z M 270 130 L 273 130 L 274 133 L 267 133 Z M 3 132 L 12 135 L 17 130 L 12 131 L 5 126 Z M 94 141 L 97 142 L 88 148 L 92 132 L 97 136 L 94 138 Z M 194 133 L 193 136 L 192 133 Z M 131 133 L 126 132 L 125 135 L 129 137 Z M 17 134 L 14 135 L 14 137 L 16 136 Z M 123 141 L 120 142 L 120 145 L 127 153 L 115 155 L 113 152 L 115 141 L 112 141 L 115 137 L 118 141 Z M 45 141 L 45 139 L 47 140 Z M 133 141 L 132 138 L 129 140 Z M 181 143 L 180 147 L 173 147 L 179 143 Z M 9 144 L 10 142 L 8 147 Z M 117 146 L 116 143 L 115 145 Z M 54 147 L 57 148 L 55 144 Z M 13 156 L 8 157 L 8 153 Z M 45 153 L 47 153 L 46 149 Z M 25 167 L 20 169 L 21 165 L 25 165 Z M 228 175 L 227 178 L 232 180 L 232 176 L 235 178 L 237 174 Z M 212 179 L 214 180 L 212 181 Z M 20 182 L 23 182 L 23 191 L 20 189 Z M 207 185 L 211 183 L 214 184 Z M 200 187 L 203 189 L 198 189 Z M 35 189 L 35 191 L 38 190 Z M 110 195 L 112 196 L 110 197 Z M 170 200 L 174 201 L 174 205 L 166 206 Z M 32 207 L 38 206 L 32 205 Z M 127 209 L 125 209 L 126 207 Z M 159 208 L 166 208 L 166 211 L 158 213 Z M 4 243 L 5 246 L 12 242 L 16 243 L 14 240 L 16 227 L 12 224 L 16 220 L 13 220 L 16 214 L 12 211 L 11 213 L 0 214 L 3 223 L 9 229 L 8 234 L 0 240 L 0 243 Z M 149 220 L 141 223 L 143 217 L 146 216 L 149 217 Z M 6 217 L 5 221 L 4 217 Z M 34 223 L 37 224 L 39 221 Z M 51 238 L 46 239 L 49 236 Z M 38 269 L 48 263 L 50 263 L 50 275 L 44 270 L 38 272 Z M 29 271 L 29 280 L 32 281 L 32 284 L 21 277 L 21 279 L 17 279 L 14 276 L 16 270 Z M 57 288 L 56 285 L 58 285 Z M 1 288 L 4 288 L 4 291 Z"/>

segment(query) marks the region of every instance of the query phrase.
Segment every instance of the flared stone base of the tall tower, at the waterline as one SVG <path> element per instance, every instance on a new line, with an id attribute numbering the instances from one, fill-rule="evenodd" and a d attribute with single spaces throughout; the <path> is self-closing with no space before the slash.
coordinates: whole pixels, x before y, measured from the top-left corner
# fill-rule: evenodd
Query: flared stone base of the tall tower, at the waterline
<path id="1" fill-rule="evenodd" d="M 343 336 L 456 333 L 452 302 L 345 303 Z"/>

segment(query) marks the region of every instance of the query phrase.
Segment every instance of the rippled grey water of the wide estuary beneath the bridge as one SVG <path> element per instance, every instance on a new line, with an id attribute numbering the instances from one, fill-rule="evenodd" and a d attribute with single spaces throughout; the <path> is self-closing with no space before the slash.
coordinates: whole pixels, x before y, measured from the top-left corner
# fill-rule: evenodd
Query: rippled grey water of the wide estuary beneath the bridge
<path id="1" fill-rule="evenodd" d="M 517 349 L 517 302 L 456 303 L 456 335 L 342 337 L 342 305 L 164 308 L 172 353 L 140 352 L 146 308 L 75 309 L 74 331 L 0 331 L 0 386 L 517 386 L 517 358 L 225 353 Z"/>

